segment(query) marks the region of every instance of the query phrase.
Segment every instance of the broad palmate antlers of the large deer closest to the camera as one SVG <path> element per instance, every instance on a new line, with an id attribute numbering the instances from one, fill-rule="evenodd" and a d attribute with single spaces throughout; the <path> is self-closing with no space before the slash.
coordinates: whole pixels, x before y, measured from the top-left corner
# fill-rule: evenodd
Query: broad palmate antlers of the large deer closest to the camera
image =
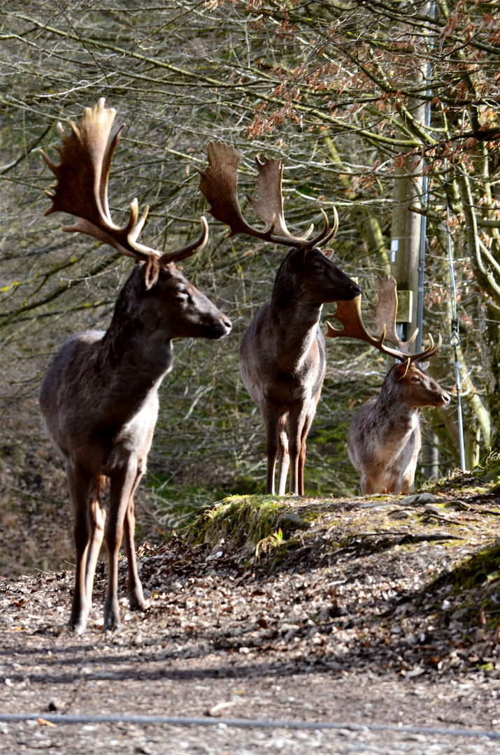
<path id="1" fill-rule="evenodd" d="M 137 199 L 130 205 L 130 214 L 125 226 L 119 227 L 110 215 L 107 200 L 107 183 L 111 160 L 124 126 L 114 125 L 116 110 L 104 107 L 101 97 L 94 107 L 86 107 L 82 120 L 74 123 L 68 119 L 71 134 L 66 136 L 63 126 L 58 123 L 57 131 L 63 146 L 56 146 L 60 153 L 60 165 L 42 151 L 42 157 L 57 178 L 51 191 L 46 191 L 52 205 L 45 212 L 67 212 L 76 217 L 72 226 L 64 226 L 65 231 L 79 231 L 95 239 L 110 244 L 122 254 L 136 260 L 147 260 L 150 254 L 159 257 L 161 265 L 177 262 L 190 257 L 205 246 L 208 239 L 208 224 L 202 217 L 202 233 L 196 241 L 181 249 L 162 254 L 137 239 L 144 227 L 148 208 L 139 220 Z"/>

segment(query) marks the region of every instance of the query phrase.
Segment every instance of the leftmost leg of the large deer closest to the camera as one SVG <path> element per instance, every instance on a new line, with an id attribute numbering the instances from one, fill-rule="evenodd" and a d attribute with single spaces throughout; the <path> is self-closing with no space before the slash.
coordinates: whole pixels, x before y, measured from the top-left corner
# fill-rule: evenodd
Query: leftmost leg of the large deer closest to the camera
<path id="1" fill-rule="evenodd" d="M 69 627 L 82 634 L 87 627 L 88 604 L 85 592 L 85 565 L 91 527 L 88 521 L 88 495 L 91 477 L 78 464 L 66 462 L 66 478 L 69 498 L 73 505 L 73 537 L 76 547 L 76 574 L 73 606 L 69 616 Z"/>

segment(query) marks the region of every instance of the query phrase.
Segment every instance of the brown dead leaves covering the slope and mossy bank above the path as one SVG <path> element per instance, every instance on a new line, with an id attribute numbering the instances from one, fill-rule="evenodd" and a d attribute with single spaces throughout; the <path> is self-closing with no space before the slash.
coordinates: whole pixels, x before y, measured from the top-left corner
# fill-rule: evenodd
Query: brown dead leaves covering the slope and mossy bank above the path
<path id="1" fill-rule="evenodd" d="M 160 645 L 165 658 L 215 652 L 294 668 L 498 678 L 500 495 L 426 496 L 227 499 L 165 544 L 140 547 L 150 607 L 124 606 L 120 637 Z M 91 631 L 102 625 L 105 571 L 100 563 Z M 125 559 L 120 574 L 125 596 Z M 25 631 L 66 631 L 73 574 L 0 587 L 0 623 L 20 641 Z"/>

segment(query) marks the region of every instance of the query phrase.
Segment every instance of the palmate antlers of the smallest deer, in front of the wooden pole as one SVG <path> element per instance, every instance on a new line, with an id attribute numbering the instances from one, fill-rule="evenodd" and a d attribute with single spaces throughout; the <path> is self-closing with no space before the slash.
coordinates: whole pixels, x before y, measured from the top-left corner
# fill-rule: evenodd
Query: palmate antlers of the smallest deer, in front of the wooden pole
<path id="1" fill-rule="evenodd" d="M 440 335 L 437 346 L 434 347 L 434 340 L 431 334 L 429 334 L 429 340 L 431 346 L 424 349 L 420 353 L 409 353 L 409 347 L 415 340 L 417 331 L 412 334 L 409 341 L 401 341 L 396 334 L 396 314 L 397 314 L 397 293 L 396 293 L 396 280 L 393 276 L 387 276 L 387 278 L 381 278 L 378 276 L 378 300 L 375 307 L 372 307 L 375 312 L 375 316 L 369 319 L 375 323 L 377 330 L 375 334 L 369 334 L 363 324 L 363 318 L 361 316 L 361 294 L 355 299 L 350 301 L 339 301 L 337 309 L 333 315 L 335 319 L 338 319 L 344 329 L 334 328 L 330 322 L 326 323 L 327 338 L 356 338 L 358 341 L 366 341 L 367 344 L 374 346 L 384 354 L 390 354 L 390 356 L 400 359 L 401 362 L 408 360 L 408 364 L 411 362 L 420 362 L 421 359 L 427 359 L 433 356 L 441 347 L 443 339 Z M 385 346 L 384 341 L 389 341 L 390 344 L 397 346 L 400 351 L 391 349 Z"/>

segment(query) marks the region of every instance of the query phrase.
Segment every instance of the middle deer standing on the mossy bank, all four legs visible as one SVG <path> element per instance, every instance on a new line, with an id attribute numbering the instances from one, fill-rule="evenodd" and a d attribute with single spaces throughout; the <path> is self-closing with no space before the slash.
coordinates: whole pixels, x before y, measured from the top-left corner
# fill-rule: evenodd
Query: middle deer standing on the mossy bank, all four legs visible
<path id="1" fill-rule="evenodd" d="M 273 293 L 255 315 L 239 349 L 243 382 L 258 403 L 266 430 L 266 492 L 274 494 L 276 457 L 279 454 L 278 495 L 285 494 L 290 465 L 290 492 L 304 495 L 306 438 L 316 412 L 325 377 L 325 340 L 319 329 L 323 304 L 352 299 L 361 289 L 321 251 L 335 236 L 338 218 L 329 230 L 323 212 L 323 230 L 308 239 L 312 226 L 301 236 L 286 227 L 281 190 L 282 165 L 277 159 L 256 159 L 258 198 L 248 197 L 266 227 L 258 230 L 242 216 L 236 171 L 240 153 L 223 143 L 208 145 L 210 167 L 199 171 L 199 188 L 211 204 L 216 220 L 227 223 L 230 236 L 245 233 L 268 242 L 292 247 L 281 263 Z M 289 417 L 289 437 L 286 418 Z"/>

